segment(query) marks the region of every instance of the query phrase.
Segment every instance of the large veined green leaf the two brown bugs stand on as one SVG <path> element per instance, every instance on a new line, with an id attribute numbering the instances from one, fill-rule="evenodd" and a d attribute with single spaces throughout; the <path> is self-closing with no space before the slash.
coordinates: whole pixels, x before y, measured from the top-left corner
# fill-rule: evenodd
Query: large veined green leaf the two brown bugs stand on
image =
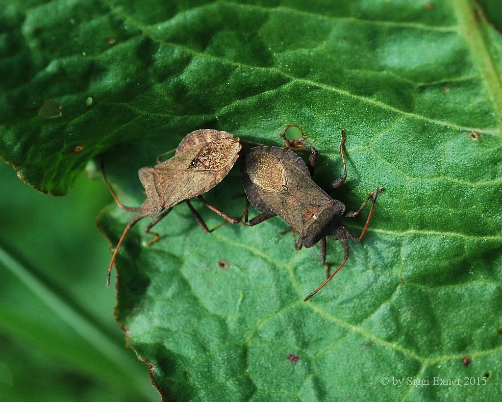
<path id="1" fill-rule="evenodd" d="M 122 200 L 140 203 L 137 169 L 180 135 L 214 127 L 279 145 L 298 124 L 321 153 L 321 185 L 341 173 L 346 129 L 336 196 L 349 207 L 386 188 L 364 241 L 309 303 L 318 246 L 294 251 L 280 218 L 206 234 L 181 205 L 152 247 L 135 228 L 117 258 L 116 316 L 165 399 L 500 400 L 496 2 L 34 3 L 2 10 L 16 53 L 0 64 L 0 152 L 35 187 L 63 193 L 106 150 Z M 237 215 L 241 193 L 235 170 L 208 198 Z M 99 224 L 115 244 L 130 219 L 110 207 Z M 328 241 L 329 262 L 341 257 Z"/>

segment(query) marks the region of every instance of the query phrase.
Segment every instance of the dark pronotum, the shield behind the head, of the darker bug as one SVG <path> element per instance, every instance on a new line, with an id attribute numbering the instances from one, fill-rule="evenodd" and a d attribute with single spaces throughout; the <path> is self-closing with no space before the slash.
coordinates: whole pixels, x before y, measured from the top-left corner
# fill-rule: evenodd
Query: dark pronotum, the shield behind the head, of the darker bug
<path id="1" fill-rule="evenodd" d="M 345 211 L 345 205 L 340 201 L 330 200 L 319 206 L 315 213 L 305 222 L 300 233 L 302 244 L 309 248 L 326 236 L 332 236 L 340 226 L 340 216 Z"/>

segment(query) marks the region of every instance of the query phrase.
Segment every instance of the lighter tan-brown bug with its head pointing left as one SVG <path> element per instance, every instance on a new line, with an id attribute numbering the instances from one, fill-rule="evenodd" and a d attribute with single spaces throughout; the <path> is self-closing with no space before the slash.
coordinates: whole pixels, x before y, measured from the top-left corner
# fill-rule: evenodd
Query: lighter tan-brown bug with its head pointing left
<path id="1" fill-rule="evenodd" d="M 138 175 L 147 195 L 147 199 L 139 207 L 122 205 L 106 179 L 104 169 L 102 170 L 104 181 L 117 205 L 126 211 L 140 213 L 128 223 L 118 240 L 108 267 L 107 286 L 110 284 L 113 262 L 124 237 L 131 227 L 146 216 L 150 216 L 153 220 L 147 225 L 145 232 L 155 236 L 148 245 L 152 245 L 160 237 L 150 229 L 165 218 L 174 205 L 183 201 L 187 203 L 204 231 L 214 230 L 207 228 L 201 216 L 190 204 L 189 199 L 193 197 L 198 197 L 204 205 L 228 222 L 239 222 L 240 219 L 235 219 L 209 204 L 202 194 L 223 180 L 237 160 L 240 148 L 239 139 L 234 138 L 229 132 L 212 129 L 192 131 L 183 138 L 176 150 L 159 155 L 156 166 L 139 170 Z M 161 157 L 175 151 L 172 158 L 162 162 Z"/>

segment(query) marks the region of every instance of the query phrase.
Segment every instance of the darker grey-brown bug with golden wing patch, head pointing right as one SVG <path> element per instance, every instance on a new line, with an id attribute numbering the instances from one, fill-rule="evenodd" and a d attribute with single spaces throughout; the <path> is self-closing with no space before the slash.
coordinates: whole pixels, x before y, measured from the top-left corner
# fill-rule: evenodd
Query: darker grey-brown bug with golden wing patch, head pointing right
<path id="1" fill-rule="evenodd" d="M 301 141 L 291 142 L 285 134 L 281 136 L 286 141 L 285 148 L 280 147 L 255 147 L 246 154 L 242 164 L 242 180 L 244 190 L 249 202 L 260 212 L 252 220 L 246 222 L 254 226 L 272 216 L 279 215 L 297 231 L 300 240 L 295 240 L 295 248 L 302 246 L 312 247 L 321 242 L 321 261 L 326 267 L 326 281 L 304 301 L 309 300 L 319 292 L 347 261 L 349 248 L 347 239 L 360 241 L 373 213 L 374 203 L 378 194 L 383 191 L 376 188 L 369 194 L 357 211 L 348 210 L 345 205 L 324 192 L 312 180 L 312 174 L 317 161 L 317 150 L 313 147 L 301 145 Z M 302 136 L 302 139 L 304 136 Z M 347 168 L 343 155 L 345 133 L 341 130 L 340 155 L 343 163 L 343 176 L 331 183 L 331 189 L 340 187 L 347 178 Z M 293 150 L 310 149 L 309 167 Z M 359 215 L 366 202 L 371 199 L 366 224 L 359 236 L 347 230 L 347 226 L 340 222 L 340 218 L 355 218 Z M 293 232 L 294 233 L 294 232 Z M 333 236 L 342 242 L 345 255 L 343 262 L 329 275 L 329 265 L 326 263 L 326 237 Z"/>

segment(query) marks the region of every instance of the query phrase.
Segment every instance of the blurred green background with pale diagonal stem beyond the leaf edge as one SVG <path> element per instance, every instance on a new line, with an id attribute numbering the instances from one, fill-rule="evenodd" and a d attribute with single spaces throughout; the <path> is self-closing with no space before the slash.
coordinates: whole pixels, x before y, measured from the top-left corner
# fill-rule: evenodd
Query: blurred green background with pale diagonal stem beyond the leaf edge
<path id="1" fill-rule="evenodd" d="M 159 400 L 111 319 L 108 243 L 93 224 L 110 200 L 85 173 L 49 197 L 0 163 L 1 401 Z"/>

